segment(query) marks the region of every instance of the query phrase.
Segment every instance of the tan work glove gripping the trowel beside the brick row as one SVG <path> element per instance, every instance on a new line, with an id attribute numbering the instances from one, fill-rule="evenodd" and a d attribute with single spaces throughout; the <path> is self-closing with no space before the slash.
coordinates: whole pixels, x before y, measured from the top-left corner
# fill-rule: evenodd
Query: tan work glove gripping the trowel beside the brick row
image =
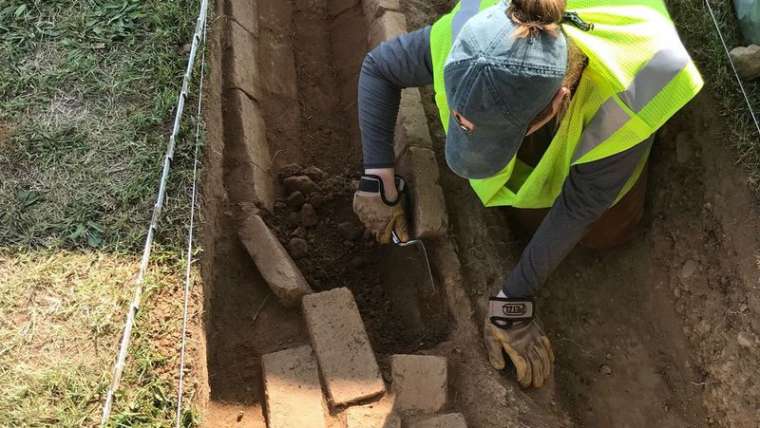
<path id="1" fill-rule="evenodd" d="M 406 182 L 399 176 L 396 176 L 396 188 L 398 197 L 395 201 L 389 201 L 383 191 L 383 180 L 374 175 L 364 175 L 359 181 L 359 189 L 354 193 L 354 212 L 381 244 L 390 243 L 393 234 L 402 243 L 409 240 L 405 211 Z"/>

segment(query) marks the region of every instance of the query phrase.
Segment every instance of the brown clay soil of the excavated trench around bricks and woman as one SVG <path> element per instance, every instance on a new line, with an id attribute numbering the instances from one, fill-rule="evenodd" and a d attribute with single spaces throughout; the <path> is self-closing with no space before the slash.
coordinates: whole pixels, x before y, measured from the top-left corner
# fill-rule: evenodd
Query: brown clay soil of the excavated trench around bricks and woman
<path id="1" fill-rule="evenodd" d="M 501 210 L 483 208 L 448 171 L 430 90 L 423 103 L 451 226 L 449 238 L 429 249 L 446 311 L 440 296 L 432 305 L 439 310 L 425 310 L 420 303 L 430 301 L 420 302 L 414 274 L 389 274 L 414 268 L 368 239 L 351 211 L 361 163 L 356 77 L 367 50 L 361 4 L 330 16 L 324 0 L 258 3 L 259 42 L 292 45 L 297 79 L 296 99 L 259 100 L 278 200 L 265 220 L 286 248 L 305 241 L 294 258 L 315 290 L 354 292 L 381 366 L 398 352 L 449 357 L 449 407 L 475 428 L 760 426 L 760 225 L 709 87 L 658 134 L 636 239 L 607 252 L 576 249 L 542 289 L 538 308 L 556 374 L 542 390 L 525 392 L 510 373 L 488 366 L 479 332 L 486 298 L 524 242 Z M 402 3 L 410 29 L 448 7 Z M 222 76 L 219 32 L 211 62 Z M 258 61 L 275 63 L 271 52 L 261 49 Z M 212 102 L 216 90 L 224 104 L 225 93 L 211 86 Z M 211 107 L 207 121 L 223 123 L 228 113 Z M 236 219 L 250 207 L 235 195 L 248 183 L 235 173 L 239 148 L 218 128 L 209 128 L 204 184 L 203 424 L 263 427 L 261 355 L 308 340 L 300 312 L 271 296 L 240 244 Z M 281 185 L 307 172 L 318 186 L 304 198 L 315 208 L 309 226 Z"/>

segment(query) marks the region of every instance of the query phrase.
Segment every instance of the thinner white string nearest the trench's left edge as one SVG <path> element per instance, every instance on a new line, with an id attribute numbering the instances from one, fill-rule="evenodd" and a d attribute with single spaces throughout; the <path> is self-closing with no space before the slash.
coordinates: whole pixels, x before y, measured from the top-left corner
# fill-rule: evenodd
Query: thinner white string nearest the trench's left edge
<path id="1" fill-rule="evenodd" d="M 190 268 L 193 264 L 193 226 L 195 224 L 195 198 L 198 189 L 198 152 L 201 146 L 201 114 L 203 112 L 203 79 L 206 75 L 206 23 L 203 24 L 203 41 L 201 42 L 201 76 L 198 84 L 198 110 L 195 122 L 195 155 L 193 156 L 193 194 L 190 202 L 190 230 L 187 234 L 187 257 L 185 262 L 185 302 L 182 309 L 182 340 L 179 351 L 179 381 L 177 385 L 177 421 L 176 428 L 182 422 L 182 395 L 185 382 L 185 345 L 187 342 L 188 302 L 190 300 Z"/>

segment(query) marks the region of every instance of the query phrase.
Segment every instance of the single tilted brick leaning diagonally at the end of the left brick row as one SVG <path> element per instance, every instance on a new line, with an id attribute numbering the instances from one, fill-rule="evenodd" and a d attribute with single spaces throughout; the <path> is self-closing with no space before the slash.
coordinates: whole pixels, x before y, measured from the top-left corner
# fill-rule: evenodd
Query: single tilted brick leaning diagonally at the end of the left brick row
<path id="1" fill-rule="evenodd" d="M 312 292 L 306 279 L 264 220 L 251 214 L 240 222 L 238 236 L 261 276 L 284 306 L 294 307 Z"/>

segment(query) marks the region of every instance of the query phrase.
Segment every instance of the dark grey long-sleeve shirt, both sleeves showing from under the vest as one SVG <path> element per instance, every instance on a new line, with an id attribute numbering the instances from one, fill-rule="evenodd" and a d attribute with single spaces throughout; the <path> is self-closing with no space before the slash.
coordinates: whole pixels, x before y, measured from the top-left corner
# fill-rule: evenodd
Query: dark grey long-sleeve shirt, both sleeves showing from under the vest
<path id="1" fill-rule="evenodd" d="M 364 59 L 359 75 L 359 126 L 365 168 L 392 167 L 393 132 L 401 89 L 433 83 L 430 27 L 381 43 Z M 646 144 L 575 165 L 549 213 L 503 286 L 510 297 L 533 295 L 615 201 Z"/>

